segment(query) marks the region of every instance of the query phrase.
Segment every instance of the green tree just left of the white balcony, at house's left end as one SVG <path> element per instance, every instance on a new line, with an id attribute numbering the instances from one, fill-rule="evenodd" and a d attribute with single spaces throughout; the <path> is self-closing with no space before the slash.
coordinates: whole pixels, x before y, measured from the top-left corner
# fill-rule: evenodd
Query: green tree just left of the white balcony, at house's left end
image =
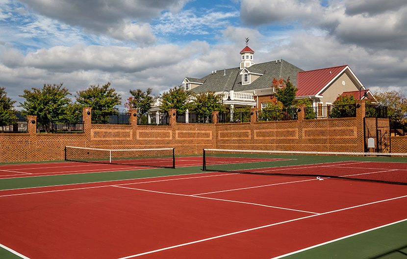
<path id="1" fill-rule="evenodd" d="M 161 104 L 159 106 L 162 113 L 168 113 L 169 109 L 177 109 L 178 114 L 184 114 L 190 109 L 192 104 L 189 103 L 191 93 L 184 91 L 182 86 L 170 88 L 168 92 L 161 94 Z"/>

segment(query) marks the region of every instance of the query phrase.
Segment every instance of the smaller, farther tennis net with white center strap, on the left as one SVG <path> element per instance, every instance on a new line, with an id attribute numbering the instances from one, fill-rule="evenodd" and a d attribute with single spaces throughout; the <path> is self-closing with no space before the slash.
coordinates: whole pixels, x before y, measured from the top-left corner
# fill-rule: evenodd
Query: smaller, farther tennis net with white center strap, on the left
<path id="1" fill-rule="evenodd" d="M 101 149 L 66 146 L 65 160 L 99 164 L 175 168 L 174 148 Z"/>

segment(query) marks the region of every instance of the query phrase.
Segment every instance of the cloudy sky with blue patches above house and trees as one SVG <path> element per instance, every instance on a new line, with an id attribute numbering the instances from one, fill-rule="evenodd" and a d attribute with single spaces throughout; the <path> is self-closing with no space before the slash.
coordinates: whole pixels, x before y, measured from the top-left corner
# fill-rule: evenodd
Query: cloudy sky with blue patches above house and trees
<path id="1" fill-rule="evenodd" d="M 0 87 L 111 83 L 160 94 L 186 77 L 284 59 L 349 65 L 372 91 L 407 95 L 407 0 L 0 0 Z M 119 107 L 124 109 L 123 105 Z"/>

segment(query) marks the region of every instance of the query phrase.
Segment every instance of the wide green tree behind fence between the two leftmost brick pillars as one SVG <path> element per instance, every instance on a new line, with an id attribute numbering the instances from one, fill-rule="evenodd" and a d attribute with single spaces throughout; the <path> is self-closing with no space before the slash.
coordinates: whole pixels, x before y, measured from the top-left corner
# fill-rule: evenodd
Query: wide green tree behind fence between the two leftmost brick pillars
<path id="1" fill-rule="evenodd" d="M 39 120 L 53 120 L 68 122 L 79 117 L 78 106 L 74 105 L 68 95 L 68 89 L 62 87 L 63 83 L 44 84 L 42 89 L 32 88 L 24 90 L 20 97 L 25 98 L 19 107 L 23 108 L 22 115 L 36 115 Z"/>

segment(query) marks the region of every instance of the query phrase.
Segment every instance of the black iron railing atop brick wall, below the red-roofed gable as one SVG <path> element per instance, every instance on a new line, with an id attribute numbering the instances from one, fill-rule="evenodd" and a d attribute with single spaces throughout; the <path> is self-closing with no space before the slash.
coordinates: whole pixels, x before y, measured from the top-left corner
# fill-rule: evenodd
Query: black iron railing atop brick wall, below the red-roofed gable
<path id="1" fill-rule="evenodd" d="M 356 117 L 356 104 L 305 107 L 305 119 Z"/>

